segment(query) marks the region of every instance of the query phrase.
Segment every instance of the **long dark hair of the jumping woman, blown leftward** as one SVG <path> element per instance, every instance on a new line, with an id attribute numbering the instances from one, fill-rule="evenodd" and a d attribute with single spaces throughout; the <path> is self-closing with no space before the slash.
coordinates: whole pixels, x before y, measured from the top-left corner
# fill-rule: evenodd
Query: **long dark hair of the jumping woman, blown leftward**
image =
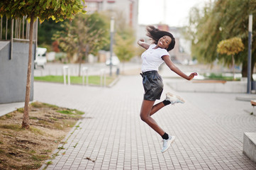
<path id="1" fill-rule="evenodd" d="M 167 51 L 172 50 L 174 48 L 175 38 L 171 33 L 164 31 L 164 30 L 159 30 L 159 29 L 155 28 L 154 26 L 148 26 L 146 29 L 148 31 L 148 33 L 147 33 L 148 37 L 150 37 L 155 44 L 157 44 L 157 42 L 160 38 L 167 35 L 170 38 L 172 38 L 171 43 L 169 43 L 169 46 L 167 47 Z"/>

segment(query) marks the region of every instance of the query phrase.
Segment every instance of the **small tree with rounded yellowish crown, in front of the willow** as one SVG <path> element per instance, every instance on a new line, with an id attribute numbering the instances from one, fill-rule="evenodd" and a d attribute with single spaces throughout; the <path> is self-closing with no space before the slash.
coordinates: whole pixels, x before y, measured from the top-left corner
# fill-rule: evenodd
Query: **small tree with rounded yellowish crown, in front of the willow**
<path id="1" fill-rule="evenodd" d="M 233 79 L 235 79 L 235 60 L 234 55 L 245 49 L 241 38 L 230 38 L 228 40 L 222 40 L 217 45 L 217 52 L 220 54 L 231 55 L 232 56 L 232 69 L 233 69 Z"/>

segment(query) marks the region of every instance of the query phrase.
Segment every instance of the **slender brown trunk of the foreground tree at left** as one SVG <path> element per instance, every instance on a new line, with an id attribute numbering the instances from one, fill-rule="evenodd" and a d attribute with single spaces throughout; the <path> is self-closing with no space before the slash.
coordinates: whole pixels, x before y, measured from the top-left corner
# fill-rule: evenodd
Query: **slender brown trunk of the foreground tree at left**
<path id="1" fill-rule="evenodd" d="M 26 84 L 26 98 L 23 113 L 22 128 L 29 129 L 28 105 L 30 99 L 30 82 L 31 82 L 31 62 L 32 62 L 32 49 L 33 49 L 33 28 L 34 28 L 34 14 L 31 15 L 30 28 L 29 28 L 29 50 L 28 50 L 28 74 Z"/>

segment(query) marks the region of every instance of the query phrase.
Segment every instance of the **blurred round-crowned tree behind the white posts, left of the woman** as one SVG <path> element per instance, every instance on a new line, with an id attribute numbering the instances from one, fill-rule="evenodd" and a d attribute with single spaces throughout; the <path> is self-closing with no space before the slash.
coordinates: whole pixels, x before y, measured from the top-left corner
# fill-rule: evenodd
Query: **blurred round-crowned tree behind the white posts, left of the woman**
<path id="1" fill-rule="evenodd" d="M 77 15 L 72 22 L 62 25 L 66 30 L 57 31 L 53 39 L 60 43 L 62 50 L 68 53 L 69 57 L 74 54 L 78 56 L 79 76 L 82 58 L 101 50 L 108 39 L 106 23 L 99 13 L 91 15 Z"/>

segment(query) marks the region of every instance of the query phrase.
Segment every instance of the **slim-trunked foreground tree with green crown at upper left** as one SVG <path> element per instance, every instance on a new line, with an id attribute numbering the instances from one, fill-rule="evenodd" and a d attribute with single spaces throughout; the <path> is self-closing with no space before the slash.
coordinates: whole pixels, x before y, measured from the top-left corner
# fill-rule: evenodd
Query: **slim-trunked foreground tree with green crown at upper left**
<path id="1" fill-rule="evenodd" d="M 32 62 L 32 47 L 33 47 L 33 23 L 35 18 L 39 18 L 40 22 L 45 19 L 52 18 L 52 20 L 64 21 L 66 18 L 72 19 L 74 15 L 79 12 L 86 12 L 82 10 L 84 6 L 80 0 L 3 0 L 0 2 L 0 15 L 7 18 L 21 18 L 27 16 L 30 21 L 29 30 L 29 50 L 28 50 L 28 74 L 26 84 L 26 98 L 23 113 L 23 128 L 29 127 L 28 104 L 30 96 L 30 79 L 31 79 L 31 62 Z"/>

